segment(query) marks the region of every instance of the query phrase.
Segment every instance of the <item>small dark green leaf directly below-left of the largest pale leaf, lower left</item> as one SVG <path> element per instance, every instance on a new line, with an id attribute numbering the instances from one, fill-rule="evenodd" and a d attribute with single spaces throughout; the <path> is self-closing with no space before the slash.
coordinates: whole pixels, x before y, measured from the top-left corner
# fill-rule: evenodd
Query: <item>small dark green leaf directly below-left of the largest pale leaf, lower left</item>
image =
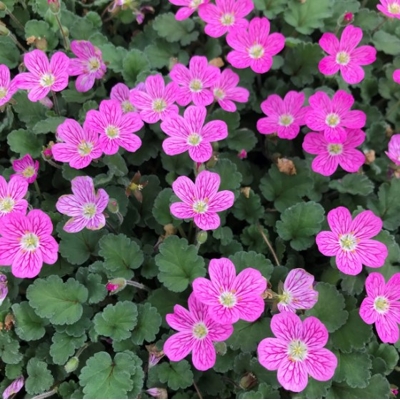
<path id="1" fill-rule="evenodd" d="M 46 333 L 46 322 L 38 317 L 27 301 L 13 304 L 12 310 L 15 318 L 15 333 L 20 339 L 27 342 L 39 340 Z"/>

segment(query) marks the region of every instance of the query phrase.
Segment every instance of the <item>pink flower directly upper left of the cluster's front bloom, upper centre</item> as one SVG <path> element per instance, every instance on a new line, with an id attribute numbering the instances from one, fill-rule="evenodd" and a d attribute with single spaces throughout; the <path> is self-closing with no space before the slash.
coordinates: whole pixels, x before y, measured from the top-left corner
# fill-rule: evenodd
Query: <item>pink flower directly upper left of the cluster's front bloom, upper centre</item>
<path id="1" fill-rule="evenodd" d="M 150 75 L 145 81 L 145 91 L 133 89 L 130 102 L 138 109 L 140 117 L 148 124 L 165 120 L 179 112 L 175 103 L 179 87 L 175 82 L 167 85 L 162 75 Z"/>

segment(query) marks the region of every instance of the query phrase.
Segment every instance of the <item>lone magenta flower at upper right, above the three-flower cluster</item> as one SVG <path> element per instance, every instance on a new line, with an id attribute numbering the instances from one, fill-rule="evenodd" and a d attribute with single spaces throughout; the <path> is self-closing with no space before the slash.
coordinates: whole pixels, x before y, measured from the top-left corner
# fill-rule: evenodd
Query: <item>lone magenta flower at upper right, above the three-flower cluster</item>
<path id="1" fill-rule="evenodd" d="M 360 83 L 365 76 L 361 65 L 369 65 L 376 61 L 376 49 L 372 46 L 357 45 L 361 42 L 361 28 L 348 25 L 344 28 L 340 42 L 333 33 L 324 33 L 319 45 L 329 55 L 318 65 L 324 75 L 341 72 L 343 80 L 350 84 Z"/>

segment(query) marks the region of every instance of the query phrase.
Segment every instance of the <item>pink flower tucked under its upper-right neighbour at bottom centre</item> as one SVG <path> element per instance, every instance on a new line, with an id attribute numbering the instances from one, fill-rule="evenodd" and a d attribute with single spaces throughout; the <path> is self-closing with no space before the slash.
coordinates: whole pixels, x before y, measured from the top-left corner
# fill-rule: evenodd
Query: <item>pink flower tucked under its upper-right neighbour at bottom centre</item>
<path id="1" fill-rule="evenodd" d="M 208 307 L 194 293 L 189 296 L 189 311 L 180 305 L 166 319 L 178 331 L 164 344 L 164 353 L 171 361 L 183 360 L 190 352 L 196 369 L 206 371 L 214 366 L 216 351 L 213 342 L 223 342 L 232 335 L 233 326 L 215 322 Z"/>

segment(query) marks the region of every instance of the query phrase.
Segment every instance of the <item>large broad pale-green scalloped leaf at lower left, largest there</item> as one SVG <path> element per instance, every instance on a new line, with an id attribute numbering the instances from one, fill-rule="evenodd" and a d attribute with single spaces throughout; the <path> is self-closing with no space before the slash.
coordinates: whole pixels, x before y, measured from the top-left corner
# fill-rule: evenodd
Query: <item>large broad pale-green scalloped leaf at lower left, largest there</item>
<path id="1" fill-rule="evenodd" d="M 51 275 L 29 285 L 26 297 L 39 317 L 48 318 L 52 324 L 71 325 L 82 316 L 88 290 L 73 278 L 63 282 Z"/>

